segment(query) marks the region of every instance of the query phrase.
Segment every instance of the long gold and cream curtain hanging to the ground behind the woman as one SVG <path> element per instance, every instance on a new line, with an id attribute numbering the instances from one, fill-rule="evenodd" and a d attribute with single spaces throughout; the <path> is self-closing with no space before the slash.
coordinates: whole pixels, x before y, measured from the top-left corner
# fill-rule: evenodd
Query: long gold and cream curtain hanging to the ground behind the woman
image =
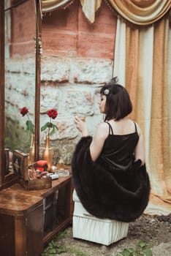
<path id="1" fill-rule="evenodd" d="M 126 85 L 132 118 L 144 134 L 152 188 L 148 214 L 171 212 L 170 37 L 168 18 L 146 29 L 132 29 L 118 19 L 113 75 Z"/>

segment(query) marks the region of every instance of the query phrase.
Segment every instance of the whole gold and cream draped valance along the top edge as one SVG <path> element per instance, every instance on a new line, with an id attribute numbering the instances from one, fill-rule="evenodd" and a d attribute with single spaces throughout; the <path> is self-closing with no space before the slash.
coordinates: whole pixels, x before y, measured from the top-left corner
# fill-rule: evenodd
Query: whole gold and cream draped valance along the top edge
<path id="1" fill-rule="evenodd" d="M 59 7 L 66 8 L 75 0 L 42 0 L 42 12 L 51 12 Z M 122 18 L 131 23 L 148 26 L 161 19 L 171 9 L 171 0 L 80 0 L 86 18 L 94 23 L 95 12 L 102 1 L 110 4 Z"/>

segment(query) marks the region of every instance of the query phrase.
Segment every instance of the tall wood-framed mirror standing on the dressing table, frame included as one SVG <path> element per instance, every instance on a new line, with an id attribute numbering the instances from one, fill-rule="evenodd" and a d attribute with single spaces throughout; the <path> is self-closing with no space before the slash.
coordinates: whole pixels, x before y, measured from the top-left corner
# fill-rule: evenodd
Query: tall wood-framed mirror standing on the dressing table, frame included
<path id="1" fill-rule="evenodd" d="M 4 29 L 4 138 L 1 149 L 1 183 L 7 183 L 15 178 L 11 166 L 12 152 L 20 150 L 28 154 L 31 136 L 36 137 L 34 160 L 39 154 L 39 54 L 37 7 L 34 0 L 6 0 L 4 13 L 1 10 L 1 31 Z M 3 4 L 2 4 L 3 5 Z M 4 28 L 3 28 L 4 16 Z M 3 59 L 1 66 L 3 65 Z M 3 76 L 3 67 L 1 67 Z M 4 94 L 4 96 L 3 96 Z M 23 115 L 22 108 L 28 113 Z M 31 130 L 28 121 L 33 124 Z M 36 124 L 35 124 L 36 123 Z M 37 129 L 38 127 L 38 129 Z M 1 137 L 3 135 L 1 134 Z M 3 148 L 4 145 L 4 148 Z"/>

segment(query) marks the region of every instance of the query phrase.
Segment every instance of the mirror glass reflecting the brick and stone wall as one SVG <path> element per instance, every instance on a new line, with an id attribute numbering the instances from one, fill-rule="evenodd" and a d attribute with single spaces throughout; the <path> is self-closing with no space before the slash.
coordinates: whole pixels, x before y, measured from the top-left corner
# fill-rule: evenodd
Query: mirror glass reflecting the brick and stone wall
<path id="1" fill-rule="evenodd" d="M 16 4 L 17 3 L 17 4 Z M 18 4 L 19 3 L 19 4 Z M 26 10 L 31 10 L 26 12 Z M 29 13 L 29 15 L 28 15 Z M 31 14 L 31 15 L 30 15 Z M 35 36 L 34 1 L 5 1 L 5 137 L 6 171 L 15 149 L 28 153 L 35 110 Z M 26 107 L 28 113 L 20 110 Z M 28 128 L 28 129 L 27 129 Z"/>

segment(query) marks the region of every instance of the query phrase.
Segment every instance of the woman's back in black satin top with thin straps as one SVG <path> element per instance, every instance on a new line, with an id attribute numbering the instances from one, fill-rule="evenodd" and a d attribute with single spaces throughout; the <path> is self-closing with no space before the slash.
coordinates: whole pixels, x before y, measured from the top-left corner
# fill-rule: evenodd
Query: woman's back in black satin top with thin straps
<path id="1" fill-rule="evenodd" d="M 130 119 L 107 122 L 108 136 L 104 141 L 99 161 L 106 167 L 117 170 L 126 170 L 134 162 L 134 149 L 137 146 L 139 135 L 137 125 Z"/>

